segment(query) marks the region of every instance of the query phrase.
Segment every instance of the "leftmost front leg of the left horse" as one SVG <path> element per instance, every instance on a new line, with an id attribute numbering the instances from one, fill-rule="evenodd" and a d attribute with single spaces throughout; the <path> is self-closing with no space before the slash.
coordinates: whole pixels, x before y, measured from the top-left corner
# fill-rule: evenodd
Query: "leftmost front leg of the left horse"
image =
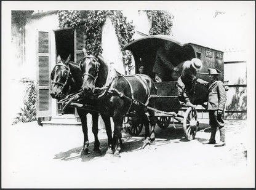
<path id="1" fill-rule="evenodd" d="M 88 128 L 87 128 L 87 112 L 81 109 L 78 109 L 78 115 L 82 123 L 82 132 L 84 133 L 84 146 L 82 147 L 81 155 L 86 155 L 89 152 L 89 140 L 88 140 Z"/>

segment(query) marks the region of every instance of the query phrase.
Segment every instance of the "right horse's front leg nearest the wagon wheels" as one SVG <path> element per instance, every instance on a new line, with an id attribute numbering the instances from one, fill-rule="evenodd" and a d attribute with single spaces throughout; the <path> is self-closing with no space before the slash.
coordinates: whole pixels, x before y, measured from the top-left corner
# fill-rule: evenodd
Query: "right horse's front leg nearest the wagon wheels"
<path id="1" fill-rule="evenodd" d="M 114 121 L 114 156 L 120 157 L 120 140 L 121 140 L 121 126 L 122 126 L 122 115 L 119 114 L 119 111 L 115 111 L 113 116 Z"/>

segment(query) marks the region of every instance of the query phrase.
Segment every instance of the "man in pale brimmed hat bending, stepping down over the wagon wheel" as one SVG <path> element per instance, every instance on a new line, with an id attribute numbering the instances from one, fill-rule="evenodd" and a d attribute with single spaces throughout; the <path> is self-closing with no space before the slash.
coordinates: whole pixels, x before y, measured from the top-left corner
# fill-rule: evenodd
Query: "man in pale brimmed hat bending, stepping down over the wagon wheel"
<path id="1" fill-rule="evenodd" d="M 202 61 L 198 58 L 193 58 L 191 61 L 185 61 L 182 65 L 182 74 L 178 77 L 178 100 L 185 102 L 186 106 L 194 107 L 190 102 L 190 95 L 194 82 L 207 85 L 209 82 L 199 79 L 196 72 L 202 69 Z"/>

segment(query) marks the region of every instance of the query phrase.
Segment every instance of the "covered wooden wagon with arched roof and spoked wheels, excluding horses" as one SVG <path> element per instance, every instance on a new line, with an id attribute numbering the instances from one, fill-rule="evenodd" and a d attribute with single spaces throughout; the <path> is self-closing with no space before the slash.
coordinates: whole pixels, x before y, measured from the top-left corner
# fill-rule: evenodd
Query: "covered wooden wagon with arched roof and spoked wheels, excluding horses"
<path id="1" fill-rule="evenodd" d="M 201 73 L 198 73 L 198 77 L 201 79 L 209 81 L 209 76 L 207 76 L 208 68 L 218 68 L 224 73 L 223 52 L 196 44 L 182 45 L 167 36 L 149 36 L 137 39 L 127 44 L 122 50 L 130 50 L 132 52 L 136 73 L 138 65 L 142 64 L 145 66 L 145 74 L 154 79 L 153 66 L 157 50 L 159 47 L 166 45 L 169 47 L 166 51 L 167 58 L 173 65 L 179 67 L 180 71 L 184 61 L 199 58 L 203 63 Z M 168 71 L 167 68 L 165 70 Z M 192 140 L 196 135 L 199 125 L 196 108 L 185 108 L 178 101 L 177 79 L 180 73 L 174 71 L 171 73 L 169 71 L 165 73 L 165 76 L 166 81 L 154 83 L 158 88 L 158 93 L 151 96 L 156 101 L 156 109 L 160 110 L 155 113 L 156 122 L 162 129 L 166 129 L 170 124 L 173 124 L 174 127 L 177 127 L 175 124 L 183 124 L 186 138 Z M 221 80 L 223 81 L 223 75 Z M 207 89 L 200 84 L 194 83 L 189 97 L 194 105 L 203 105 L 207 101 Z M 173 114 L 166 114 L 162 111 Z M 180 111 L 185 111 L 185 113 L 178 114 Z M 127 117 L 124 119 L 124 126 L 127 132 L 133 136 L 139 135 L 143 128 L 140 118 L 136 117 L 134 113 L 127 114 Z"/>

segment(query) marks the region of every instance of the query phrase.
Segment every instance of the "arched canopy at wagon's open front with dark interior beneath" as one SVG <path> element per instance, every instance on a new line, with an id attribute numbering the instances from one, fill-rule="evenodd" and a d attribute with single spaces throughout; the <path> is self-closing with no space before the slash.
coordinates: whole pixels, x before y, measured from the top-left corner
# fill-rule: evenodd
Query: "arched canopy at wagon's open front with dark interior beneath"
<path id="1" fill-rule="evenodd" d="M 168 47 L 167 58 L 173 65 L 178 65 L 182 61 L 191 60 L 191 58 L 196 57 L 194 49 L 190 44 L 183 46 L 183 44 L 164 35 L 137 39 L 124 46 L 122 50 L 130 50 L 134 55 L 136 72 L 138 65 L 143 64 L 145 65 L 146 73 L 152 76 L 156 51 L 159 47 L 164 47 L 166 44 Z"/>

